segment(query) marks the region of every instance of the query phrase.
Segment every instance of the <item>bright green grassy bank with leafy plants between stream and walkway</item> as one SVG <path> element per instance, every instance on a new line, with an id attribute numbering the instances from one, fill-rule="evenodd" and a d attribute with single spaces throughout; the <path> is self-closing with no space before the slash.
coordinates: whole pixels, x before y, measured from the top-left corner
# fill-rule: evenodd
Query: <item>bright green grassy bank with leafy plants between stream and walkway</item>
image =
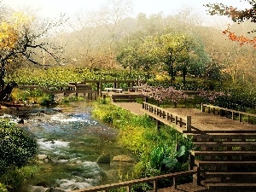
<path id="1" fill-rule="evenodd" d="M 153 119 L 139 116 L 111 104 L 109 100 L 94 103 L 93 115 L 118 129 L 118 140 L 136 154 L 139 163 L 134 177 L 150 177 L 188 169 L 192 143 L 170 126 L 157 131 Z M 163 183 L 164 184 L 164 183 Z"/>

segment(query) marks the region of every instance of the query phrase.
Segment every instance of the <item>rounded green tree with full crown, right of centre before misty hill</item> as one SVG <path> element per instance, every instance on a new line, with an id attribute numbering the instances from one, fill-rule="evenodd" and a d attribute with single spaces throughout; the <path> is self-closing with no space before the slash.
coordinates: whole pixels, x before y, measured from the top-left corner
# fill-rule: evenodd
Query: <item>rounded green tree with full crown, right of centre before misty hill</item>
<path id="1" fill-rule="evenodd" d="M 183 73 L 183 80 L 187 73 L 198 75 L 203 72 L 208 59 L 207 53 L 203 44 L 194 37 L 186 33 L 172 32 L 149 37 L 147 41 L 153 48 L 150 53 L 165 64 L 171 84 L 177 71 Z"/>

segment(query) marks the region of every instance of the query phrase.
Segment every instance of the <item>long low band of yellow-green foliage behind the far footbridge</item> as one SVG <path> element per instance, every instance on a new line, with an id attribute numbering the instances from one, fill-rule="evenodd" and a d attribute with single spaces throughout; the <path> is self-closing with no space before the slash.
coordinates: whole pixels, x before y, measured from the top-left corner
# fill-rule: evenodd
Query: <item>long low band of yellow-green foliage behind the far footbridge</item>
<path id="1" fill-rule="evenodd" d="M 106 70 L 75 67 L 49 67 L 44 70 L 40 68 L 20 68 L 15 76 L 6 77 L 6 81 L 15 81 L 20 85 L 51 86 L 53 89 L 67 85 L 70 82 L 82 82 L 84 80 L 145 80 L 146 73 L 140 70 Z M 104 86 L 106 86 L 104 84 Z"/>

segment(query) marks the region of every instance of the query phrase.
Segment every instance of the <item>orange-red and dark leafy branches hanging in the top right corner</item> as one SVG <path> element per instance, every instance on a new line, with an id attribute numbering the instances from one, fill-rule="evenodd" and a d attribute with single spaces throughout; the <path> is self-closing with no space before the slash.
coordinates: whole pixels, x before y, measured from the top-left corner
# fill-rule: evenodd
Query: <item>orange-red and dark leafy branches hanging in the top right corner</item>
<path id="1" fill-rule="evenodd" d="M 254 0 L 244 0 L 251 5 L 250 9 L 239 10 L 233 6 L 224 5 L 223 3 L 208 3 L 206 7 L 210 15 L 226 15 L 230 17 L 234 22 L 244 22 L 245 20 L 250 20 L 253 23 L 256 23 L 256 3 Z M 256 32 L 253 29 L 250 32 Z M 250 33 L 248 32 L 248 33 Z M 230 31 L 230 26 L 224 30 L 224 34 L 228 34 L 229 38 L 232 41 L 237 41 L 239 44 L 253 44 L 253 47 L 256 48 L 256 37 L 248 38 L 244 35 L 236 35 L 235 32 Z"/>

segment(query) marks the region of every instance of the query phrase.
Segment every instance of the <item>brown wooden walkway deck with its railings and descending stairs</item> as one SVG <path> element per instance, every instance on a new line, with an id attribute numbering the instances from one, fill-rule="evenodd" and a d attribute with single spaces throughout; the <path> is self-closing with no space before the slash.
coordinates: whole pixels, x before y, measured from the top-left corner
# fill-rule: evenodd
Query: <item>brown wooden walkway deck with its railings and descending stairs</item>
<path id="1" fill-rule="evenodd" d="M 129 105 L 116 102 L 115 105 L 127 108 L 132 112 L 140 106 L 160 123 L 170 125 L 185 137 L 191 137 L 194 149 L 190 154 L 190 170 L 158 177 L 148 177 L 122 183 L 113 183 L 76 192 L 108 191 L 125 187 L 127 192 L 137 183 L 154 183 L 153 191 L 256 191 L 256 115 L 243 113 L 212 105 L 201 105 L 195 108 L 159 108 L 148 102 Z M 136 112 L 136 111 L 135 111 Z M 177 186 L 177 177 L 193 175 L 194 183 L 186 189 Z M 169 177 L 173 179 L 172 187 L 158 189 L 157 182 Z M 171 185 L 171 183 L 170 183 Z M 201 187 L 201 188 L 200 188 Z"/>

